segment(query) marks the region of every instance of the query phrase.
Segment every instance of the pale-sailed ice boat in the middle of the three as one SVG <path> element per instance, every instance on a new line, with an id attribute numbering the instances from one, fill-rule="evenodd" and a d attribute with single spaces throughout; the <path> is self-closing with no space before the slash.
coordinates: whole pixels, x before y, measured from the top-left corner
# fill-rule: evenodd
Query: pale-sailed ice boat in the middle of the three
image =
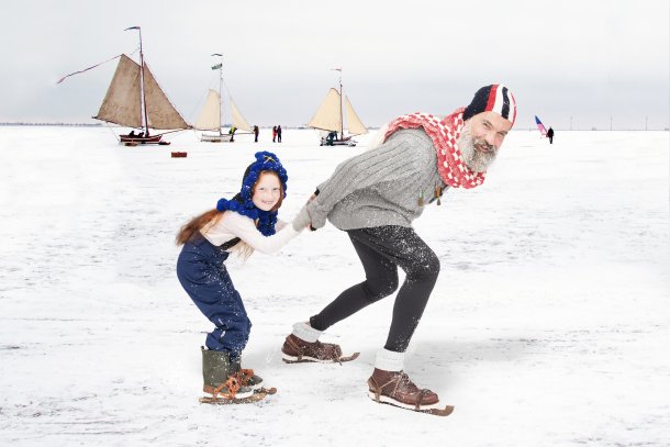
<path id="1" fill-rule="evenodd" d="M 223 103 L 221 101 L 221 92 L 223 87 L 223 55 L 219 53 L 214 53 L 212 56 L 221 56 L 221 63 L 214 65 L 212 67 L 213 70 L 219 69 L 219 91 L 210 89 L 208 97 L 204 101 L 204 105 L 196 120 L 196 124 L 193 128 L 199 131 L 214 131 L 217 134 L 202 134 L 200 137 L 201 142 L 210 142 L 210 143 L 232 143 L 234 141 L 233 127 L 236 130 L 247 131 L 249 133 L 254 132 L 253 127 L 247 123 L 244 119 L 239 110 L 233 102 L 233 98 L 228 96 L 228 104 L 231 108 L 231 115 L 233 119 L 233 127 L 231 132 L 224 134 L 222 132 L 223 126 Z"/>

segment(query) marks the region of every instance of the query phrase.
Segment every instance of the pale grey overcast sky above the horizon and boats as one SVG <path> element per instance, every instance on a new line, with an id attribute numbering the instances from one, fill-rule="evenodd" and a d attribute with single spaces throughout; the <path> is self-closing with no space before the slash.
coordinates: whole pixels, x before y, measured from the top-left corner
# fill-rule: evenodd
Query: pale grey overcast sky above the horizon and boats
<path id="1" fill-rule="evenodd" d="M 446 114 L 503 82 L 518 127 L 669 125 L 668 0 L 3 1 L 0 121 L 93 122 L 118 59 L 138 46 L 193 122 L 211 70 L 250 124 L 306 123 L 343 68 L 364 123 Z M 133 57 L 136 58 L 137 54 Z M 611 121 L 612 118 L 612 121 Z M 646 121 L 647 120 L 647 121 Z"/>

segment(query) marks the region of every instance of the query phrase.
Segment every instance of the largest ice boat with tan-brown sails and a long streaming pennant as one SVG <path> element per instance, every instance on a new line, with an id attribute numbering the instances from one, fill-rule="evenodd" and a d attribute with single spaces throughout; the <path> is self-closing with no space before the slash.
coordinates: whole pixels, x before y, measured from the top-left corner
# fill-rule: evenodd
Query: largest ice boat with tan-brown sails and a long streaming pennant
<path id="1" fill-rule="evenodd" d="M 126 146 L 170 144 L 161 139 L 163 135 L 168 132 L 152 135 L 149 128 L 175 132 L 190 128 L 191 126 L 170 103 L 149 70 L 149 67 L 144 62 L 141 27 L 132 26 L 125 31 L 127 30 L 137 30 L 139 32 L 139 64 L 125 54 L 114 57 L 120 58 L 116 71 L 107 90 L 102 105 L 100 105 L 100 110 L 93 119 L 134 127 L 130 134 L 119 136 L 119 143 Z M 87 71 L 98 65 L 71 75 Z M 71 75 L 62 78 L 58 83 Z M 135 128 L 141 130 L 141 132 L 135 134 Z"/>

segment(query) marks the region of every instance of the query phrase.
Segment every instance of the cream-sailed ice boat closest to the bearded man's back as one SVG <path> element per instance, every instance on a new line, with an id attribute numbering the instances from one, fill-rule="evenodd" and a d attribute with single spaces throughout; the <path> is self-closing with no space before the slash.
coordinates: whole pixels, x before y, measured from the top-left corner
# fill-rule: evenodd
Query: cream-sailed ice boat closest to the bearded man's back
<path id="1" fill-rule="evenodd" d="M 349 136 L 344 135 L 345 115 L 342 101 L 342 68 L 334 68 L 339 71 L 339 91 L 334 88 L 328 90 L 321 107 L 308 123 L 308 126 L 322 131 L 321 146 L 356 146 L 356 141 L 351 135 L 367 134 L 368 130 L 354 111 L 349 98 L 344 97 L 344 109 L 346 110 L 347 130 Z M 339 136 L 337 133 L 339 132 Z"/>

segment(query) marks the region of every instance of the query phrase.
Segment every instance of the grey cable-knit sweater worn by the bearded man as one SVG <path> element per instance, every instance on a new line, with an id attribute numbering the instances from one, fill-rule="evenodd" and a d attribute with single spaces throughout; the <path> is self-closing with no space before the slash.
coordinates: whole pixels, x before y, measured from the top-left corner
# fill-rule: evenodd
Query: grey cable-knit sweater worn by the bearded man
<path id="1" fill-rule="evenodd" d="M 324 226 L 326 217 L 339 230 L 412 226 L 435 187 L 445 189 L 433 141 L 422 128 L 401 130 L 339 164 L 319 186 L 308 212 L 314 228 Z"/>

